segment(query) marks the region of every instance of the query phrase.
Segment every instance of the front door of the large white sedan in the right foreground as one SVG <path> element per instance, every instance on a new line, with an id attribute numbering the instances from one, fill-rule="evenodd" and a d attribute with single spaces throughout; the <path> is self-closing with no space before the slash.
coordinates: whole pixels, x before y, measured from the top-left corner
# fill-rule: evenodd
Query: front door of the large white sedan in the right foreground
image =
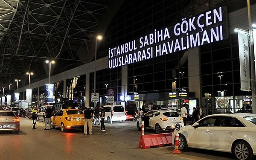
<path id="1" fill-rule="evenodd" d="M 210 116 L 198 121 L 199 125 L 189 130 L 188 145 L 195 148 L 211 148 L 212 147 L 212 130 L 217 117 Z"/>

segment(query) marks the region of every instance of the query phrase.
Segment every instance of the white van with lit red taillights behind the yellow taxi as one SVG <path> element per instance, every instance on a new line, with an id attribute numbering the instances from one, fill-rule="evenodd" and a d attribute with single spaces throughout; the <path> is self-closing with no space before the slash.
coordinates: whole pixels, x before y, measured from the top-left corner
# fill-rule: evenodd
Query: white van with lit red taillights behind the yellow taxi
<path id="1" fill-rule="evenodd" d="M 111 122 L 111 113 L 112 121 L 123 122 L 126 120 L 125 116 L 125 107 L 122 105 L 104 105 L 105 110 L 105 121 L 108 123 Z"/>

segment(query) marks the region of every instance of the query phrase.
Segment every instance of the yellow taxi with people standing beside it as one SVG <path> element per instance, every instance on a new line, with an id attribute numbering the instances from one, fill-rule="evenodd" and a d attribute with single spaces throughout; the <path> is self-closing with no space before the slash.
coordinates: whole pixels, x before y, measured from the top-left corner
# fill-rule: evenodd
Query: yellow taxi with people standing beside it
<path id="1" fill-rule="evenodd" d="M 79 109 L 60 109 L 51 117 L 52 128 L 66 132 L 72 128 L 84 129 L 84 113 Z"/>

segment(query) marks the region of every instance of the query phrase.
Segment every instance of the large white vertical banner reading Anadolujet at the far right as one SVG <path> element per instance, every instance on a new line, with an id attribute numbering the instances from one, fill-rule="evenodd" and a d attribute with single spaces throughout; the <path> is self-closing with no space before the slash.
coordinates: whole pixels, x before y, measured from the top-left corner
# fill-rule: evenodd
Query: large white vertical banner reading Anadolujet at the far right
<path id="1" fill-rule="evenodd" d="M 249 42 L 246 31 L 238 32 L 241 90 L 250 91 Z"/>

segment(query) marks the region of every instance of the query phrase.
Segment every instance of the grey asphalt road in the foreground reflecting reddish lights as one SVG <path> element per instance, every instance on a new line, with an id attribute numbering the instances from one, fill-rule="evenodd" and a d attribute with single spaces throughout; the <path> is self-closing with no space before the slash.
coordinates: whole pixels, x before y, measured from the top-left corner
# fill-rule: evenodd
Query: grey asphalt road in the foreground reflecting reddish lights
<path id="1" fill-rule="evenodd" d="M 92 135 L 79 129 L 62 133 L 44 130 L 43 122 L 32 130 L 32 120 L 20 118 L 19 134 L 0 132 L 0 160 L 233 160 L 230 153 L 199 149 L 172 154 L 174 146 L 141 149 L 135 122 L 105 126 L 106 132 L 100 132 L 100 125 L 93 125 Z"/>

